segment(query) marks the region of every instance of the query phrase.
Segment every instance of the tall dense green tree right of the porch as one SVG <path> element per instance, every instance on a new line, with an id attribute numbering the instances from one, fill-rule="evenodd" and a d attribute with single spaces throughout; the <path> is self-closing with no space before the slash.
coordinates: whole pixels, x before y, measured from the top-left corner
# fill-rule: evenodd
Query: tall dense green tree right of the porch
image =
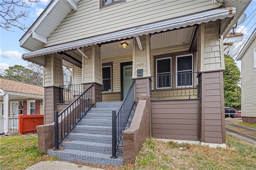
<path id="1" fill-rule="evenodd" d="M 224 102 L 227 107 L 241 107 L 241 76 L 234 59 L 225 54 L 224 78 Z"/>

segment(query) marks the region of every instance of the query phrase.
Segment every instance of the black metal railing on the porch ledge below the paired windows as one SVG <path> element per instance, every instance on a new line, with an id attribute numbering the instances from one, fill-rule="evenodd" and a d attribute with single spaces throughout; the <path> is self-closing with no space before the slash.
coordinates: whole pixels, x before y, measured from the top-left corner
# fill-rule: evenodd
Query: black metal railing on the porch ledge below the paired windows
<path id="1" fill-rule="evenodd" d="M 171 96 L 191 96 L 198 97 L 198 72 L 187 72 L 177 74 L 166 74 L 152 76 L 154 81 L 154 91 L 151 96 L 171 97 Z"/>

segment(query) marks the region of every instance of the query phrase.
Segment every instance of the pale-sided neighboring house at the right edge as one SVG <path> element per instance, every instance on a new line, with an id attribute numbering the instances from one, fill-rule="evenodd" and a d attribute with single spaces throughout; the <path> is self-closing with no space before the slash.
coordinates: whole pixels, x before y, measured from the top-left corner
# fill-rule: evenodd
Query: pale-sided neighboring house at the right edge
<path id="1" fill-rule="evenodd" d="M 256 124 L 256 29 L 236 60 L 242 62 L 241 111 L 243 122 Z"/>

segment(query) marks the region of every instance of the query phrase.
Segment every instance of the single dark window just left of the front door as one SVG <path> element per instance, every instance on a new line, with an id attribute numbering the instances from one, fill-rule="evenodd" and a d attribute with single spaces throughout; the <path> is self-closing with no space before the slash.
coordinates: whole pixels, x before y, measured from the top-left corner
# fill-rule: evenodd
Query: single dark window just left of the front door
<path id="1" fill-rule="evenodd" d="M 112 92 L 112 65 L 102 67 L 102 92 Z"/>

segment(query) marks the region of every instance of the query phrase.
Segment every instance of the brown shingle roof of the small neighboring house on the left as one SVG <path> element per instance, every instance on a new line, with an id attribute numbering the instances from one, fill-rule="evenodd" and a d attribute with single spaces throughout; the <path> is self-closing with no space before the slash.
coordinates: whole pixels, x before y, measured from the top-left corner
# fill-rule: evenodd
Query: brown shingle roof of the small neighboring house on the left
<path id="1" fill-rule="evenodd" d="M 24 93 L 31 95 L 44 95 L 44 87 L 37 85 L 31 85 L 27 83 L 21 83 L 18 81 L 12 81 L 0 78 L 0 88 L 4 91 Z"/>

